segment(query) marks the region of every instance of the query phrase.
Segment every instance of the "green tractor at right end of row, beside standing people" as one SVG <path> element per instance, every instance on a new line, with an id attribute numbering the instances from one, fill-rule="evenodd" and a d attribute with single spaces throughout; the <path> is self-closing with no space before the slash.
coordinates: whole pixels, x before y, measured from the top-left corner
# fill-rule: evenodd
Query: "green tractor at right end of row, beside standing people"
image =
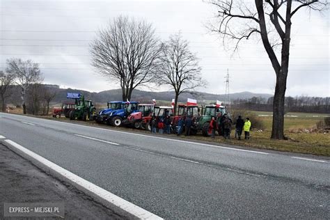
<path id="1" fill-rule="evenodd" d="M 221 135 L 221 117 L 226 113 L 226 108 L 223 106 L 217 107 L 217 105 L 207 105 L 203 109 L 203 116 L 196 117 L 194 125 L 191 127 L 191 130 L 194 130 L 194 133 L 201 131 L 204 136 L 211 136 L 212 132 L 210 131 L 210 122 L 212 117 L 217 117 L 217 123 L 219 127 L 219 134 Z"/>

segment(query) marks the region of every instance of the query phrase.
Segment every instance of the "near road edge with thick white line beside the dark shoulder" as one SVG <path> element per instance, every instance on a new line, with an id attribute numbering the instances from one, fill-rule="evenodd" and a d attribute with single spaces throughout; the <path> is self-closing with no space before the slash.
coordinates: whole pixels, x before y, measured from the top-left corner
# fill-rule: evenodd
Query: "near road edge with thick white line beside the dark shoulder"
<path id="1" fill-rule="evenodd" d="M 95 201 L 109 207 L 111 210 L 122 215 L 123 217 L 127 217 L 128 219 L 162 219 L 162 217 L 148 212 L 147 210 L 144 210 L 129 201 L 125 201 L 123 198 L 111 194 L 111 192 L 102 189 L 101 187 L 98 187 L 83 178 L 80 178 L 78 175 L 65 170 L 61 166 L 50 162 L 31 150 L 20 146 L 18 143 L 6 139 L 4 136 L 0 139 L 0 142 L 10 150 L 13 150 L 13 152 L 17 153 L 17 155 L 20 155 L 38 168 L 42 169 L 42 171 L 58 178 L 58 180 L 72 184 L 72 186 L 76 187 L 78 190 L 83 191 L 85 194 L 95 199 Z"/>

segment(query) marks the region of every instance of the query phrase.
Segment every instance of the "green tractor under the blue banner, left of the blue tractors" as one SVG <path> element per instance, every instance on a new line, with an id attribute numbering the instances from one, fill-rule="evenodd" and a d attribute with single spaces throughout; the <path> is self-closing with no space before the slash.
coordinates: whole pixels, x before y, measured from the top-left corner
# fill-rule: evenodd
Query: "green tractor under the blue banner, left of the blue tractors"
<path id="1" fill-rule="evenodd" d="M 70 120 L 94 120 L 96 109 L 91 100 L 85 100 L 84 95 L 75 98 L 74 110 L 69 112 Z"/>

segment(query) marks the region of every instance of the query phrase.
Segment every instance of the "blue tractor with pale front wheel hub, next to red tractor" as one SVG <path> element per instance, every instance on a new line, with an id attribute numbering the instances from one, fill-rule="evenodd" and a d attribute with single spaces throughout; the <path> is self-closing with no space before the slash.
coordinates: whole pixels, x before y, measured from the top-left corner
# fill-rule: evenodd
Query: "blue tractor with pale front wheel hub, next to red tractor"
<path id="1" fill-rule="evenodd" d="M 110 125 L 119 127 L 123 125 L 123 120 L 138 110 L 139 102 L 122 102 L 121 108 L 113 110 L 108 114 L 108 122 Z"/>

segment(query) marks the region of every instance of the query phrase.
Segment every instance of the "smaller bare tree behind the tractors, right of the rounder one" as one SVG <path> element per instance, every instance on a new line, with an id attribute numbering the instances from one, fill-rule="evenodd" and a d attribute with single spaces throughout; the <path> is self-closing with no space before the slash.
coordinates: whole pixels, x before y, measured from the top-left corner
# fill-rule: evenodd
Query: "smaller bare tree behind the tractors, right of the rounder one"
<path id="1" fill-rule="evenodd" d="M 174 114 L 181 93 L 188 93 L 194 88 L 206 85 L 201 78 L 198 58 L 190 51 L 189 43 L 182 39 L 181 33 L 171 35 L 162 45 L 158 72 L 157 82 L 170 85 L 174 89 Z"/>

